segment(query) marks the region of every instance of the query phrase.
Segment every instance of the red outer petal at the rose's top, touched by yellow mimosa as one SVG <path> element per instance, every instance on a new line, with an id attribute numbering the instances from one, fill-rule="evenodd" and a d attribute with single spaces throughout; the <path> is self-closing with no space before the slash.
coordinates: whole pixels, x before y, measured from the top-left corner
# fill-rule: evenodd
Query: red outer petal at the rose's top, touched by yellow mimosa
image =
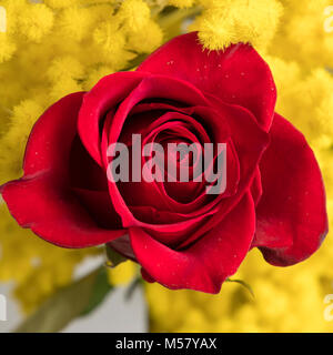
<path id="1" fill-rule="evenodd" d="M 271 126 L 276 89 L 269 65 L 251 45 L 239 43 L 210 52 L 203 50 L 196 32 L 191 32 L 158 49 L 138 71 L 191 82 L 226 103 L 246 108 L 265 131 Z"/>

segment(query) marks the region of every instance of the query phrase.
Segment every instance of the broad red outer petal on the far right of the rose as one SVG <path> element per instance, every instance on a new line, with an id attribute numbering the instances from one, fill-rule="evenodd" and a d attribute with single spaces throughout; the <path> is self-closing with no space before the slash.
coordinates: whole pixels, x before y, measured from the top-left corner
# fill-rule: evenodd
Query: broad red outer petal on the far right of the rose
<path id="1" fill-rule="evenodd" d="M 253 246 L 260 246 L 273 265 L 301 262 L 319 248 L 327 233 L 325 192 L 304 136 L 279 114 L 260 170 L 263 195 L 256 207 Z"/>

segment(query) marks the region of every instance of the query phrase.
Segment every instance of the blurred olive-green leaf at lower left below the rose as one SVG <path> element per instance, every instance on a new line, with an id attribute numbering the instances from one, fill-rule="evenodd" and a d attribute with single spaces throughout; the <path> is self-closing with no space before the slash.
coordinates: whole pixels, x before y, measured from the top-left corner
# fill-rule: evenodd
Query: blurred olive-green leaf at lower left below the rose
<path id="1" fill-rule="evenodd" d="M 59 290 L 47 300 L 14 333 L 54 333 L 72 320 L 89 314 L 111 291 L 105 286 L 105 267 Z"/>

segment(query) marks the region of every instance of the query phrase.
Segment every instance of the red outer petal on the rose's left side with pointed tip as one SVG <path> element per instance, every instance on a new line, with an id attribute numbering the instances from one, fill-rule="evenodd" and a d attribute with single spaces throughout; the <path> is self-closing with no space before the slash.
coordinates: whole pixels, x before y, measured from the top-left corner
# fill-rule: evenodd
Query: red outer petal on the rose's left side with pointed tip
<path id="1" fill-rule="evenodd" d="M 24 176 L 1 189 L 21 226 L 65 247 L 103 244 L 124 234 L 100 229 L 69 187 L 69 155 L 83 94 L 61 99 L 38 120 L 27 145 Z"/>

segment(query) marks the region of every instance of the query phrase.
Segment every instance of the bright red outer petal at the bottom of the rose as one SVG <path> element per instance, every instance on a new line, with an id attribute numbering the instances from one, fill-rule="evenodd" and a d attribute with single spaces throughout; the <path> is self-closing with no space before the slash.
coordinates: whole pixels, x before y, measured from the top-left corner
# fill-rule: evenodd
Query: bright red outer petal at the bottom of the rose
<path id="1" fill-rule="evenodd" d="M 246 255 L 254 229 L 254 204 L 246 193 L 214 230 L 185 251 L 169 248 L 142 229 L 129 231 L 134 254 L 150 277 L 169 288 L 219 293 Z"/>

